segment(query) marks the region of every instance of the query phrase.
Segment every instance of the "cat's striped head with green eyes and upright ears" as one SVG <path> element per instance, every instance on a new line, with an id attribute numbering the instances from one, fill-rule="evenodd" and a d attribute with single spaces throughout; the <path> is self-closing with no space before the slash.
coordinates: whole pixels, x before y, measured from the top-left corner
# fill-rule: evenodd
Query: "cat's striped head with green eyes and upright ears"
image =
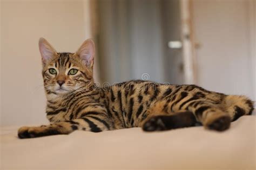
<path id="1" fill-rule="evenodd" d="M 44 38 L 39 39 L 44 88 L 47 94 L 62 95 L 93 83 L 95 45 L 91 39 L 75 53 L 57 52 Z"/>

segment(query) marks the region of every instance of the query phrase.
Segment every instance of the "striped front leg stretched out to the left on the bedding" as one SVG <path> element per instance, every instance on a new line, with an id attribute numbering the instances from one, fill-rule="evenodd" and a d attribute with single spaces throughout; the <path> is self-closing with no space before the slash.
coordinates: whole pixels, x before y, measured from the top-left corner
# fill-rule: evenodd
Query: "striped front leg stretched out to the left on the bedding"
<path id="1" fill-rule="evenodd" d="M 21 127 L 18 130 L 19 138 L 36 138 L 46 135 L 69 134 L 76 130 L 102 132 L 112 130 L 112 123 L 108 118 L 99 118 L 97 115 L 88 115 L 72 121 L 63 121 L 51 125 Z"/>

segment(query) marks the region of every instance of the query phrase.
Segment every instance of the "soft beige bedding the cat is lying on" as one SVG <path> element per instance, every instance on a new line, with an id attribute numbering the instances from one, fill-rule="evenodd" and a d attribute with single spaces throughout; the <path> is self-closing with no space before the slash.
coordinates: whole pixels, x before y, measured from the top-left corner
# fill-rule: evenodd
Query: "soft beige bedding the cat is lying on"
<path id="1" fill-rule="evenodd" d="M 200 126 L 129 128 L 34 139 L 18 139 L 17 127 L 3 127 L 0 169 L 255 169 L 255 126 L 251 115 L 222 133 Z"/>

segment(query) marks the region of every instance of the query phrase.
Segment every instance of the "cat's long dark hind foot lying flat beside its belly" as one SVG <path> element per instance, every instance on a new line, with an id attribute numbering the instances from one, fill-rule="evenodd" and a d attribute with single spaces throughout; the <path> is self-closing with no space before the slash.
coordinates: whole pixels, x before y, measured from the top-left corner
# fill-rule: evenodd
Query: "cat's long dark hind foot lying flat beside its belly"
<path id="1" fill-rule="evenodd" d="M 197 121 L 192 112 L 150 115 L 143 123 L 144 131 L 166 131 L 181 127 L 196 125 Z"/>

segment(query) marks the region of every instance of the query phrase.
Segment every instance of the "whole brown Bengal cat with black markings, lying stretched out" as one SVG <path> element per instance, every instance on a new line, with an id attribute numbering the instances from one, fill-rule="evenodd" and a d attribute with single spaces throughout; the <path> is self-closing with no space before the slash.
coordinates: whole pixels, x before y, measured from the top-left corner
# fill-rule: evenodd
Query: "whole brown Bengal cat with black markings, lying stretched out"
<path id="1" fill-rule="evenodd" d="M 87 39 L 76 53 L 58 53 L 39 39 L 42 76 L 50 125 L 21 127 L 19 138 L 69 134 L 76 130 L 102 132 L 130 127 L 165 131 L 200 123 L 225 131 L 231 121 L 252 114 L 245 96 L 211 92 L 196 85 L 164 85 L 131 80 L 108 87 L 93 81 L 95 44 Z"/>

